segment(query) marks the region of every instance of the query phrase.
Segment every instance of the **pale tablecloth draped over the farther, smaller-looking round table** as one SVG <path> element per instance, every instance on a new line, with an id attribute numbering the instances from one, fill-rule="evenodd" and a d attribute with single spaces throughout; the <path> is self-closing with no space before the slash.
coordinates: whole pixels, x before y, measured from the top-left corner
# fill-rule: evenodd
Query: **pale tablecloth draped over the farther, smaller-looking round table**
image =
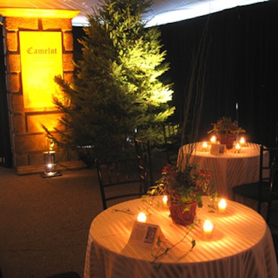
<path id="1" fill-rule="evenodd" d="M 209 148 L 207 152 L 202 151 L 202 143 L 197 143 L 196 146 L 190 162 L 196 163 L 199 168 L 212 171 L 211 179 L 215 181 L 220 197 L 231 199 L 231 189 L 234 186 L 259 181 L 260 145 L 247 143 L 238 154 L 234 149 L 230 149 L 219 156 L 211 154 Z M 188 145 L 179 149 L 177 166 L 182 169 L 186 163 L 186 148 Z M 267 156 L 268 154 L 265 154 L 265 159 Z"/>

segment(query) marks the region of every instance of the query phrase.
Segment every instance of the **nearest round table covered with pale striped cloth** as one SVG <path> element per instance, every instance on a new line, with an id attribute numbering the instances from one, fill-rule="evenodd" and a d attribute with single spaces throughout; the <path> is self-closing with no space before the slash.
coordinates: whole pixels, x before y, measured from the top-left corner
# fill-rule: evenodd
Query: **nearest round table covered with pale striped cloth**
<path id="1" fill-rule="evenodd" d="M 161 197 L 133 199 L 107 208 L 92 221 L 85 255 L 85 278 L 277 278 L 277 261 L 270 229 L 265 220 L 243 204 L 227 200 L 227 211 L 208 206 L 197 208 L 197 223 L 188 227 L 175 224 Z M 150 204 L 152 201 L 152 204 Z M 175 245 L 159 257 L 158 247 L 129 242 L 131 230 L 140 211 L 147 212 L 147 224 L 161 228 L 161 246 Z M 205 238 L 204 220 L 213 225 L 211 238 Z M 191 240 L 195 247 L 190 251 Z"/>

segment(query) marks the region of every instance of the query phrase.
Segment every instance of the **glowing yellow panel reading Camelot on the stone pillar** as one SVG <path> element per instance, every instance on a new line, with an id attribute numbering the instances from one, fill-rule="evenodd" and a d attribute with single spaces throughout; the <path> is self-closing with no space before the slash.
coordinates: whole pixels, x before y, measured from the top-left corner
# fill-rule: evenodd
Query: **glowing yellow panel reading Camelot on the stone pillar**
<path id="1" fill-rule="evenodd" d="M 24 108 L 54 107 L 52 97 L 59 88 L 54 76 L 63 76 L 60 32 L 19 32 Z"/>

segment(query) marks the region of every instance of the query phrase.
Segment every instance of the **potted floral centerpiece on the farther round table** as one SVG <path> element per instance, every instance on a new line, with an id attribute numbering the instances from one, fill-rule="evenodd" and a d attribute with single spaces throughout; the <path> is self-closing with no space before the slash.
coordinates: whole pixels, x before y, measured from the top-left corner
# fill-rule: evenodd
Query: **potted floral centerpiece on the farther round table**
<path id="1" fill-rule="evenodd" d="M 227 149 L 233 147 L 237 133 L 244 133 L 245 129 L 238 126 L 237 121 L 232 121 L 231 117 L 221 117 L 217 122 L 213 123 L 213 129 L 209 133 L 215 133 L 221 144 L 227 146 Z"/>

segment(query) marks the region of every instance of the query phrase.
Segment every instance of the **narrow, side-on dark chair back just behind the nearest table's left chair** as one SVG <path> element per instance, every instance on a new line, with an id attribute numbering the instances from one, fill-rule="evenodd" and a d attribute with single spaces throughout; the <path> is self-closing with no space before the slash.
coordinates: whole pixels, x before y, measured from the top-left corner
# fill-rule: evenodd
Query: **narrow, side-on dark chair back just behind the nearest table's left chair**
<path id="1" fill-rule="evenodd" d="M 136 157 L 140 175 L 146 177 L 147 186 L 154 185 L 154 176 L 152 172 L 152 154 L 149 140 L 147 142 L 135 138 Z"/>

